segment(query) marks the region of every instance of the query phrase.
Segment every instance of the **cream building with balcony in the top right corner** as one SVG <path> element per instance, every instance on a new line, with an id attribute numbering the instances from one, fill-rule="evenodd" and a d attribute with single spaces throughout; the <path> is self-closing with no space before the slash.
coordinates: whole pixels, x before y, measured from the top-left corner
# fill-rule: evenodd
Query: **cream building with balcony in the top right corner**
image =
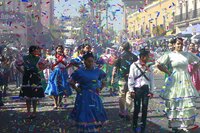
<path id="1" fill-rule="evenodd" d="M 200 23 L 199 0 L 177 0 L 175 13 L 176 33 L 184 31 L 188 26 Z"/>

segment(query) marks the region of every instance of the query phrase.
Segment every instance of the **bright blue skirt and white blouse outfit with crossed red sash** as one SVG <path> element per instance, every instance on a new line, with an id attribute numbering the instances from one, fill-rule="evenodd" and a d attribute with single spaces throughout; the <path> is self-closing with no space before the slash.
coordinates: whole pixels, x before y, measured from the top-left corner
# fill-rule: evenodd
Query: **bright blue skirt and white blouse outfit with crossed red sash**
<path id="1" fill-rule="evenodd" d="M 72 94 L 71 87 L 68 83 L 67 61 L 64 57 L 59 61 L 59 57 L 54 57 L 50 61 L 52 72 L 50 74 L 45 94 L 49 96 L 69 96 Z"/>

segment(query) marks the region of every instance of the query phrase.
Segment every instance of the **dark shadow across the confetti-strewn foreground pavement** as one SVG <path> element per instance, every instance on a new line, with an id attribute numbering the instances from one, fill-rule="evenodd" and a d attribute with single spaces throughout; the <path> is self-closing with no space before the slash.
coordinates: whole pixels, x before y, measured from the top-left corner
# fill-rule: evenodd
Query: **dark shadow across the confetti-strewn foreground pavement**
<path id="1" fill-rule="evenodd" d="M 26 119 L 25 112 L 6 110 L 0 112 L 0 129 L 2 133 L 76 133 L 75 126 L 70 123 L 71 108 L 38 112 L 35 119 Z M 118 108 L 107 108 L 110 120 L 103 126 L 101 133 L 132 133 L 132 121 L 126 121 L 118 116 Z M 147 123 L 147 133 L 167 133 L 159 125 Z"/>

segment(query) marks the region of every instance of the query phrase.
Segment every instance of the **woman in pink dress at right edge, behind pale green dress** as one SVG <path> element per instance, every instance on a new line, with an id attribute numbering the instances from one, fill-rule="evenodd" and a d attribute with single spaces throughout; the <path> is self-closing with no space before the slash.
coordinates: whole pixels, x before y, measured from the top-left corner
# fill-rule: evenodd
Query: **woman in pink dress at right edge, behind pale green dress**
<path id="1" fill-rule="evenodd" d="M 195 50 L 195 44 L 191 43 L 189 45 L 189 52 L 197 55 L 199 54 L 196 50 Z M 194 85 L 194 87 L 197 89 L 197 91 L 200 93 L 200 69 L 195 67 L 196 63 L 190 64 L 188 65 L 188 71 L 191 74 L 191 78 L 192 78 L 192 83 Z M 198 69 L 195 73 L 191 73 L 193 69 Z"/>

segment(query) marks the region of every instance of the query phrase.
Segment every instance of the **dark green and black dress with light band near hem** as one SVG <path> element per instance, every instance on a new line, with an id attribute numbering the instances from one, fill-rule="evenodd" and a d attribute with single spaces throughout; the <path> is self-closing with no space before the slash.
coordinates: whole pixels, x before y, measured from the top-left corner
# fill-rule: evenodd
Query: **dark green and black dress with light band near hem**
<path id="1" fill-rule="evenodd" d="M 29 54 L 20 61 L 24 67 L 20 96 L 24 98 L 42 98 L 44 90 L 41 84 L 41 76 L 38 69 L 40 57 Z"/>

